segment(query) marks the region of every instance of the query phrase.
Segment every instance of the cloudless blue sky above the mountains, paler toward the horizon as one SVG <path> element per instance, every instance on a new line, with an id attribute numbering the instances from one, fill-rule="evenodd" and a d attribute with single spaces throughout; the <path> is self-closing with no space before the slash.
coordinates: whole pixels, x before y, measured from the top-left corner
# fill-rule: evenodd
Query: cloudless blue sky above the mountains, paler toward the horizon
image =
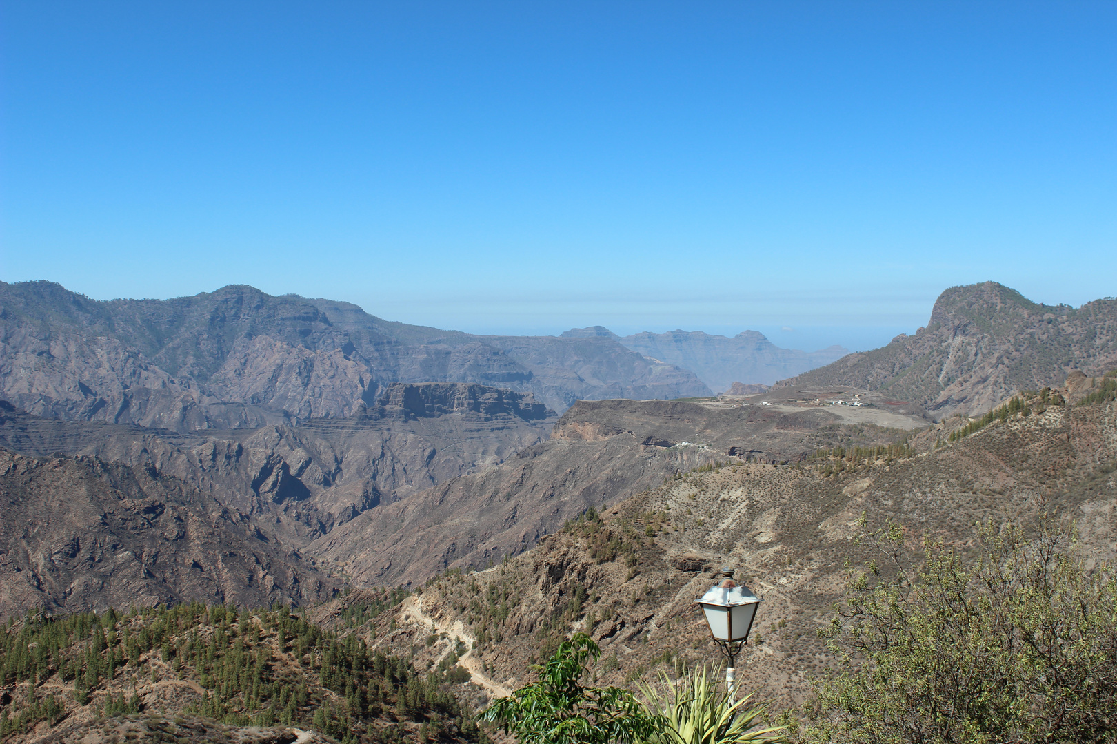
<path id="1" fill-rule="evenodd" d="M 0 3 L 0 279 L 869 348 L 1117 294 L 1117 3 Z"/>

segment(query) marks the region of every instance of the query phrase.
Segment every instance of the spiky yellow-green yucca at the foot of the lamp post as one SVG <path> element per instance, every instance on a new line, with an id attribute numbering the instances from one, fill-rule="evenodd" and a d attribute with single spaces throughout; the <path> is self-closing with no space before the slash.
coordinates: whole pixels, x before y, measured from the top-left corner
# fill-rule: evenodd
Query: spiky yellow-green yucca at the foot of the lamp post
<path id="1" fill-rule="evenodd" d="M 732 699 L 704 666 L 676 682 L 660 673 L 660 684 L 640 685 L 645 706 L 660 722 L 646 744 L 745 744 L 780 742 L 783 726 L 756 728 L 767 707 L 755 693 Z M 657 687 L 659 689 L 657 689 Z M 661 690 L 663 694 L 661 694 Z"/>

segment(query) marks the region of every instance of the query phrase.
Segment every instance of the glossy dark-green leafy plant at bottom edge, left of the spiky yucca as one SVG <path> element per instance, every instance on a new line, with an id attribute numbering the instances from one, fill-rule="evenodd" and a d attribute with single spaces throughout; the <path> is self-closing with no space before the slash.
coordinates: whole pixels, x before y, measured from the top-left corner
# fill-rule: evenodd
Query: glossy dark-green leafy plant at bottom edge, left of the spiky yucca
<path id="1" fill-rule="evenodd" d="M 480 713 L 521 744 L 608 744 L 647 741 L 659 722 L 627 689 L 584 687 L 585 666 L 601 649 L 583 632 L 563 641 L 535 667 L 538 682 L 521 687 Z"/>

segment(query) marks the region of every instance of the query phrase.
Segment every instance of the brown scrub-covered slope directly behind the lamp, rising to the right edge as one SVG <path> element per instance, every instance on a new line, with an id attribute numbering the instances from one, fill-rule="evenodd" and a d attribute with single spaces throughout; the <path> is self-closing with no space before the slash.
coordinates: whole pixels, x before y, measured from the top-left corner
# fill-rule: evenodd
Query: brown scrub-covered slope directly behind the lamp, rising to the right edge
<path id="1" fill-rule="evenodd" d="M 602 644 L 601 680 L 623 684 L 717 658 L 693 602 L 718 568 L 733 566 L 764 599 L 738 678 L 794 704 L 832 663 L 817 631 L 841 595 L 843 561 L 868 557 L 853 542 L 862 514 L 870 528 L 895 520 L 916 540 L 966 549 L 980 520 L 1027 525 L 1053 510 L 1076 521 L 1095 557 L 1117 555 L 1117 403 L 1060 403 L 1032 399 L 1030 415 L 955 443 L 941 425 L 920 435 L 917 453 L 696 472 L 489 570 L 431 582 L 423 611 L 460 620 L 478 641 L 474 658 L 499 684 L 526 682 L 528 665 L 575 629 Z M 422 632 L 395 632 L 408 627 Z"/>

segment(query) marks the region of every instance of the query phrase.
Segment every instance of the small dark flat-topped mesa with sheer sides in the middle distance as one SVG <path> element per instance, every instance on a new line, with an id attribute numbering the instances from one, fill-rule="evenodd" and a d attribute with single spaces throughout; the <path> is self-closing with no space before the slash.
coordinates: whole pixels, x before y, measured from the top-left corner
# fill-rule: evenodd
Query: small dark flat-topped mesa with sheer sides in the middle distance
<path id="1" fill-rule="evenodd" d="M 393 383 L 369 409 L 369 414 L 380 418 L 409 421 L 467 413 L 486 418 L 515 416 L 526 422 L 555 415 L 531 393 L 468 383 Z"/>

